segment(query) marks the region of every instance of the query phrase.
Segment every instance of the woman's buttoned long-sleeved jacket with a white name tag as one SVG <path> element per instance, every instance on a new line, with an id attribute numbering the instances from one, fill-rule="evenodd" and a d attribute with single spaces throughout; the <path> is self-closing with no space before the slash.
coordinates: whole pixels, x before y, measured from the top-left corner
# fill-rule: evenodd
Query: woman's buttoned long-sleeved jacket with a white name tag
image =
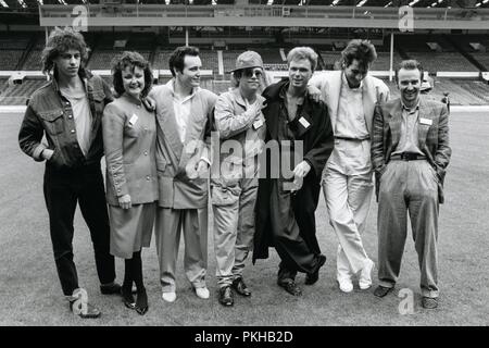
<path id="1" fill-rule="evenodd" d="M 109 103 L 102 117 L 106 200 L 130 195 L 133 204 L 158 200 L 156 120 L 151 101 L 136 104 L 125 95 Z"/>

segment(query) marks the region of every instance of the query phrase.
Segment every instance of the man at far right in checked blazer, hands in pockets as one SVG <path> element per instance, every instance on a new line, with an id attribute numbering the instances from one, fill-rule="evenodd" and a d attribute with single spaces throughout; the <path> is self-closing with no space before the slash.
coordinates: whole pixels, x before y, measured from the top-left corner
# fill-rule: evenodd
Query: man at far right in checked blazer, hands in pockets
<path id="1" fill-rule="evenodd" d="M 401 98 L 376 105 L 372 163 L 378 199 L 378 278 L 374 295 L 394 287 L 410 213 L 421 269 L 424 308 L 438 307 L 438 212 L 452 150 L 447 105 L 419 95 L 423 67 L 403 61 L 396 71 Z"/>

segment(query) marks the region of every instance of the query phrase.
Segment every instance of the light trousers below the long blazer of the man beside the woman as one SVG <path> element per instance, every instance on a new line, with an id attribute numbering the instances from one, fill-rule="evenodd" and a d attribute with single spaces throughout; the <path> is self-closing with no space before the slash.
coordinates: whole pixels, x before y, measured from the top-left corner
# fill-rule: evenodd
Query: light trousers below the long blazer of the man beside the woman
<path id="1" fill-rule="evenodd" d="M 156 251 L 163 293 L 175 291 L 175 268 L 184 231 L 184 270 L 193 287 L 205 287 L 208 268 L 208 207 L 172 209 L 158 207 L 155 221 Z"/>

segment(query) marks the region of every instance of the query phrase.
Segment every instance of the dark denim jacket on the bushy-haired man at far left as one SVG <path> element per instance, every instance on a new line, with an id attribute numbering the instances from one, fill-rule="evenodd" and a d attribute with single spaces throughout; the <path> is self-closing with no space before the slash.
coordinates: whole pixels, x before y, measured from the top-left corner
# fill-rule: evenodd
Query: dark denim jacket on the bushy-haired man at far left
<path id="1" fill-rule="evenodd" d="M 79 76 L 84 82 L 92 116 L 88 153 L 84 156 L 79 148 L 72 105 L 61 95 L 54 76 L 30 97 L 18 133 L 21 149 L 35 161 L 42 161 L 41 152 L 48 148 L 54 152 L 47 165 L 54 169 L 76 169 L 100 162 L 103 156 L 103 109 L 113 97 L 109 85 L 100 76 L 84 69 L 80 69 Z M 41 142 L 43 134 L 48 145 Z"/>

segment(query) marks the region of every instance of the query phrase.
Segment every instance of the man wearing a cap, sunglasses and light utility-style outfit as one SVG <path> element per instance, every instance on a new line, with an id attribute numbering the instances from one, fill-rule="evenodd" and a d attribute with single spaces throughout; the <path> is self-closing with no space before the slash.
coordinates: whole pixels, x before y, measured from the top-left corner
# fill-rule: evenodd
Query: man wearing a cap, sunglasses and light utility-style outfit
<path id="1" fill-rule="evenodd" d="M 260 54 L 241 53 L 233 71 L 237 87 L 222 94 L 215 104 L 221 151 L 220 161 L 213 161 L 216 166 L 212 171 L 211 196 L 218 300 L 226 307 L 234 304 L 231 288 L 241 296 L 251 296 L 242 273 L 253 246 L 259 154 L 265 138 L 264 98 L 260 95 L 263 74 Z M 229 153 L 227 145 L 239 148 Z"/>

